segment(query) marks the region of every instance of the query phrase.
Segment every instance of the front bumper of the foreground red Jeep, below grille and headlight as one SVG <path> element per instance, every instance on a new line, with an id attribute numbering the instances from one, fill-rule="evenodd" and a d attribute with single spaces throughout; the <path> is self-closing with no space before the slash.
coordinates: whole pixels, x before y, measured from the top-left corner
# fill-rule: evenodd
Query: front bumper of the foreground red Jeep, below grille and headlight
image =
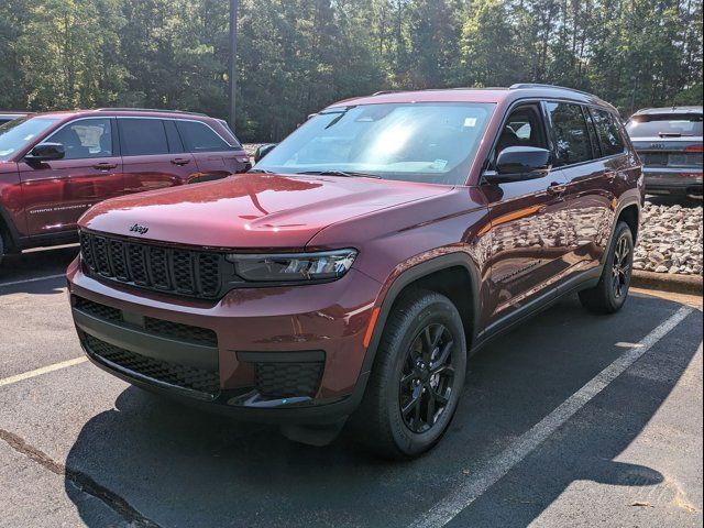
<path id="1" fill-rule="evenodd" d="M 88 358 L 129 383 L 268 422 L 333 422 L 366 384 L 363 344 L 381 285 L 351 270 L 333 283 L 169 298 L 67 273 Z"/>

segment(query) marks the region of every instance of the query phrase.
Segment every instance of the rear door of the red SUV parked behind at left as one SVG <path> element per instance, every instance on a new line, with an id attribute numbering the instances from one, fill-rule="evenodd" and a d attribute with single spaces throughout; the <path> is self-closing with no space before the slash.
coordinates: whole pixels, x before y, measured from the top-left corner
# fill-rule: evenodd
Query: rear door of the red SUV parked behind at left
<path id="1" fill-rule="evenodd" d="M 118 128 L 127 194 L 183 185 L 197 175 L 173 120 L 120 117 Z"/>

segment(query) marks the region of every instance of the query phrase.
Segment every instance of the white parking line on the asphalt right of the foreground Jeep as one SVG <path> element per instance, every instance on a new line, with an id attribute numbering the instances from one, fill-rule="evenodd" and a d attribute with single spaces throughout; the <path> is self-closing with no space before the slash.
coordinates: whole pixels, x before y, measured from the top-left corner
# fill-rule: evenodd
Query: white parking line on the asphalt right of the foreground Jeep
<path id="1" fill-rule="evenodd" d="M 446 526 L 463 509 L 482 496 L 491 486 L 504 477 L 516 464 L 522 461 L 538 446 L 556 432 L 576 411 L 584 407 L 594 396 L 607 387 L 614 380 L 638 361 L 658 341 L 676 327 L 692 308 L 683 306 L 669 319 L 653 329 L 642 341 L 620 355 L 610 365 L 586 383 L 576 393 L 564 400 L 557 409 L 536 424 L 530 430 L 521 435 L 501 454 L 481 466 L 466 483 L 461 484 L 432 509 L 427 512 L 413 528 L 438 528 Z"/>

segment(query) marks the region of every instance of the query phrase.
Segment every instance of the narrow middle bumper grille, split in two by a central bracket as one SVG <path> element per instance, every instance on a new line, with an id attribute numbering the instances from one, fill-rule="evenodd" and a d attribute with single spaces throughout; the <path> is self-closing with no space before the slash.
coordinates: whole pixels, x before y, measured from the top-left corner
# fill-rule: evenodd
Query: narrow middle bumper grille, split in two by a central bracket
<path id="1" fill-rule="evenodd" d="M 77 295 L 74 296 L 74 307 L 89 316 L 97 317 L 98 319 L 124 324 L 122 310 L 119 310 L 118 308 L 101 305 L 100 302 L 96 302 Z M 144 330 L 162 338 L 202 344 L 206 346 L 218 346 L 218 334 L 208 328 L 191 327 L 190 324 L 183 324 L 180 322 L 145 317 Z"/>

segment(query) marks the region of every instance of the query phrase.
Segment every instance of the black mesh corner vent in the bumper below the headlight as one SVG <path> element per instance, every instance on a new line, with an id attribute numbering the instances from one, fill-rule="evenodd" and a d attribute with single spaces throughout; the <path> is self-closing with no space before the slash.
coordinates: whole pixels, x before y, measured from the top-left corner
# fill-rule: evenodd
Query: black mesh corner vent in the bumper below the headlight
<path id="1" fill-rule="evenodd" d="M 315 397 L 323 362 L 255 363 L 256 391 L 266 398 Z"/>

